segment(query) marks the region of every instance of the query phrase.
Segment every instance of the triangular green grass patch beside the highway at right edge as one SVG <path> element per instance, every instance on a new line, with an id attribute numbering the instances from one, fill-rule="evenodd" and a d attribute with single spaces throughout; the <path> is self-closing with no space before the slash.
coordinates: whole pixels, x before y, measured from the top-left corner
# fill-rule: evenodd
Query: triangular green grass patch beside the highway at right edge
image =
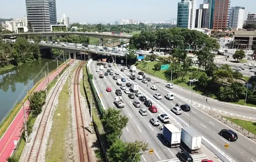
<path id="1" fill-rule="evenodd" d="M 244 129 L 252 132 L 253 134 L 256 134 L 256 123 L 255 122 L 250 122 L 250 121 L 245 121 L 237 118 L 229 118 L 229 117 L 224 117 L 230 120 L 231 122 L 243 127 Z"/>

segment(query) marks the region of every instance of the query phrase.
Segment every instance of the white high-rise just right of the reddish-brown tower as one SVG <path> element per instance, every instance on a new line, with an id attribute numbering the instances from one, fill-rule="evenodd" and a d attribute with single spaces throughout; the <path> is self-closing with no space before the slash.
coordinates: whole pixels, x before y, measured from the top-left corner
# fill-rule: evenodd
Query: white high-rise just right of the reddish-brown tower
<path id="1" fill-rule="evenodd" d="M 244 7 L 231 7 L 229 11 L 229 28 L 242 29 L 244 18 Z"/>

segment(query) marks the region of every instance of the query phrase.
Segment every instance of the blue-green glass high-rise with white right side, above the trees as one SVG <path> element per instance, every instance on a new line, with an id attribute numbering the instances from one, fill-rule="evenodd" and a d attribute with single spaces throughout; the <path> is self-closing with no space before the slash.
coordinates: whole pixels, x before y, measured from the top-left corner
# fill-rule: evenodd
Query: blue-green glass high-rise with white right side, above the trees
<path id="1" fill-rule="evenodd" d="M 196 0 L 182 0 L 178 3 L 177 27 L 195 27 Z"/>

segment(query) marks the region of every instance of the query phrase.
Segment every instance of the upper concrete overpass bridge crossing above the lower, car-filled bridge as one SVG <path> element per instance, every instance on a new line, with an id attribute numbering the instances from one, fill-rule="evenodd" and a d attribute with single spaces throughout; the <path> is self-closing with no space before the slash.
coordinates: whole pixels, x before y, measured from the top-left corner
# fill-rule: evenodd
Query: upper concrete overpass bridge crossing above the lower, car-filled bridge
<path id="1" fill-rule="evenodd" d="M 9 34 L 2 34 L 3 37 L 14 37 L 14 36 L 24 36 L 29 38 L 30 36 L 41 36 L 41 37 L 48 37 L 51 41 L 52 37 L 54 36 L 65 36 L 65 35 L 81 35 L 87 37 L 95 37 L 100 39 L 100 45 L 103 44 L 103 39 L 129 39 L 132 35 L 113 35 L 112 33 L 108 32 L 71 32 L 71 31 L 53 31 L 53 32 L 24 32 L 24 33 L 9 33 Z"/>

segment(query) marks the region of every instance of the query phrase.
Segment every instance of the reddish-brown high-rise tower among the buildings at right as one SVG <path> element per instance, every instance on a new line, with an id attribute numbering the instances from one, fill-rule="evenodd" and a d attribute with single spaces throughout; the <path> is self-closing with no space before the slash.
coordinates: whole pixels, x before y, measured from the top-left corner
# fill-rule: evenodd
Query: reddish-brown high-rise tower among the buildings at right
<path id="1" fill-rule="evenodd" d="M 230 0 L 210 0 L 209 29 L 223 30 L 229 25 Z"/>

